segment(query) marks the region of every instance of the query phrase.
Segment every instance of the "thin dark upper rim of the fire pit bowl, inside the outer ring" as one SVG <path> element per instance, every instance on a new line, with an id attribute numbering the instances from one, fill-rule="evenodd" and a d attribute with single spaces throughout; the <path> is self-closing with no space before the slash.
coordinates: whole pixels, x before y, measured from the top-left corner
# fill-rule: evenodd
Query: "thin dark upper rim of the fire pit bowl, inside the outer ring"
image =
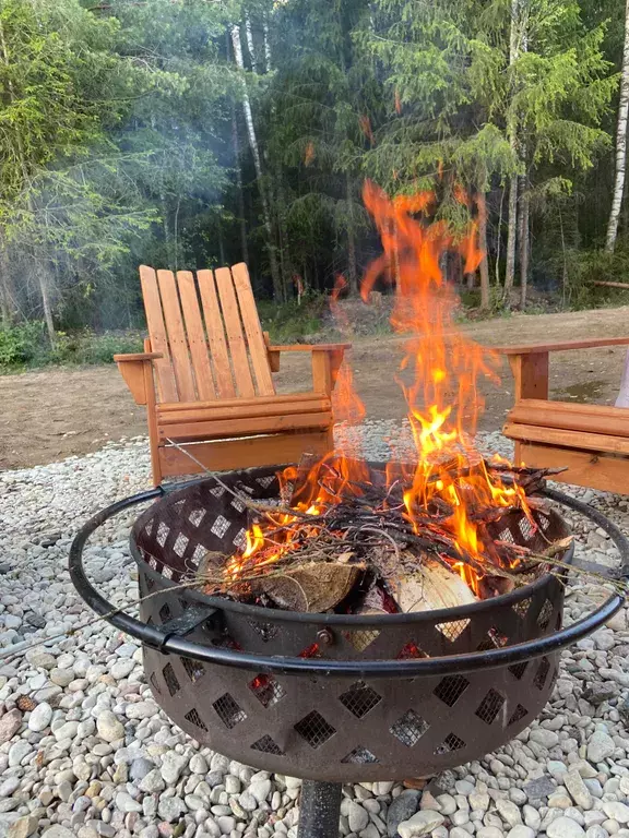
<path id="1" fill-rule="evenodd" d="M 373 466 L 381 465 L 379 463 L 371 464 Z M 283 466 L 276 466 L 274 468 L 281 469 Z M 238 474 L 247 471 L 257 471 L 260 469 L 238 469 Z M 198 486 L 204 483 L 207 480 L 212 480 L 212 476 L 207 475 L 204 478 L 186 481 L 185 483 L 177 483 L 173 487 L 164 487 L 164 494 L 177 498 L 178 494 L 182 494 L 188 491 L 191 486 Z M 176 501 L 174 501 L 176 503 Z M 155 582 L 165 584 L 168 588 L 177 588 L 178 583 L 174 579 L 169 579 L 159 571 L 154 570 L 149 562 L 142 556 L 140 549 L 138 548 L 138 534 L 147 524 L 151 515 L 152 507 L 149 506 L 137 520 L 131 528 L 129 538 L 130 551 L 135 563 L 142 567 L 142 572 L 150 576 Z M 555 510 L 550 511 L 553 516 L 559 516 Z M 571 564 L 574 558 L 574 544 L 571 543 L 561 561 L 565 564 Z M 551 563 L 551 562 L 550 562 Z M 500 594 L 497 597 L 489 599 L 480 599 L 477 602 L 472 602 L 464 606 L 453 606 L 452 608 L 441 608 L 431 611 L 413 611 L 401 614 L 325 614 L 316 613 L 312 611 L 288 611 L 278 608 L 264 608 L 263 606 L 252 606 L 246 602 L 239 602 L 238 600 L 232 600 L 223 597 L 213 597 L 207 594 L 203 594 L 193 587 L 180 588 L 181 596 L 190 598 L 197 602 L 207 606 L 210 608 L 219 609 L 222 611 L 233 611 L 234 613 L 247 614 L 248 616 L 259 620 L 272 620 L 273 622 L 286 622 L 286 623 L 304 623 L 312 622 L 316 620 L 322 625 L 336 625 L 336 626 L 360 626 L 360 625 L 375 625 L 380 628 L 385 628 L 389 625 L 404 625 L 415 624 L 422 622 L 434 622 L 436 619 L 443 619 L 451 622 L 454 620 L 464 620 L 472 618 L 474 614 L 483 613 L 483 611 L 491 610 L 496 607 L 512 606 L 520 602 L 523 599 L 529 598 L 538 588 L 546 584 L 548 573 L 541 574 L 536 579 L 526 585 L 522 585 L 515 588 L 509 594 Z"/>

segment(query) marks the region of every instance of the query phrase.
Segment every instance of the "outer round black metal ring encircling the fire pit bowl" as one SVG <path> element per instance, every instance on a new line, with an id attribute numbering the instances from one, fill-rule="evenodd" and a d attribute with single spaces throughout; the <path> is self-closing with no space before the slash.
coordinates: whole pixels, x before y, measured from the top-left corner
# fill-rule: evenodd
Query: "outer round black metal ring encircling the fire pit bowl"
<path id="1" fill-rule="evenodd" d="M 180 489 L 181 486 L 174 487 Z M 333 674 L 348 678 L 416 678 L 439 674 L 473 672 L 482 669 L 494 669 L 507 665 L 519 663 L 531 658 L 547 655 L 577 643 L 609 620 L 622 606 L 625 598 L 613 594 L 595 611 L 572 625 L 558 632 L 537 637 L 534 641 L 513 646 L 497 647 L 466 655 L 450 655 L 439 658 L 413 658 L 406 660 L 327 660 L 318 658 L 289 658 L 282 656 L 252 655 L 233 649 L 204 646 L 186 639 L 171 632 L 164 632 L 155 625 L 149 625 L 126 613 L 123 608 L 116 608 L 106 600 L 90 583 L 83 567 L 83 550 L 93 532 L 115 515 L 139 503 L 163 498 L 169 489 L 157 487 L 139 494 L 131 495 L 112 503 L 90 518 L 79 530 L 70 548 L 70 577 L 80 596 L 97 614 L 121 632 L 135 637 L 141 643 L 158 649 L 163 654 L 181 655 L 187 658 L 240 669 L 249 669 L 261 673 L 275 674 Z M 620 553 L 621 574 L 629 575 L 629 542 L 622 532 L 610 522 L 606 520 L 588 504 L 575 501 L 562 492 L 546 489 L 544 492 L 551 500 L 570 506 L 603 527 Z M 387 623 L 390 615 L 375 619 L 375 622 Z M 394 615 L 393 615 L 394 619 Z"/>

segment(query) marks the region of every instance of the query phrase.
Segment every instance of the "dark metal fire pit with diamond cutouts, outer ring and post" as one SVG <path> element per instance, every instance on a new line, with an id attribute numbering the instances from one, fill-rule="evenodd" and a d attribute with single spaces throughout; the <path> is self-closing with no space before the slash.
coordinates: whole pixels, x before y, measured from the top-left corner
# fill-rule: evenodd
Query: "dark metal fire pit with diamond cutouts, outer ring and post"
<path id="1" fill-rule="evenodd" d="M 221 480 L 276 499 L 275 470 Z M 629 544 L 617 527 L 546 493 L 602 526 L 625 570 Z M 92 587 L 82 553 L 105 520 L 151 499 L 131 532 L 137 620 Z M 556 512 L 536 515 L 544 536 L 523 516 L 503 518 L 495 536 L 541 549 L 568 534 Z M 142 642 L 155 701 L 186 733 L 247 765 L 314 781 L 304 785 L 300 836 L 336 835 L 341 782 L 429 776 L 512 739 L 548 701 L 560 650 L 622 604 L 613 595 L 562 627 L 563 582 L 553 574 L 472 606 L 361 616 L 258 608 L 185 587 L 206 550 L 233 553 L 246 527 L 245 505 L 212 477 L 161 487 L 92 518 L 72 544 L 70 573 L 94 611 Z"/>

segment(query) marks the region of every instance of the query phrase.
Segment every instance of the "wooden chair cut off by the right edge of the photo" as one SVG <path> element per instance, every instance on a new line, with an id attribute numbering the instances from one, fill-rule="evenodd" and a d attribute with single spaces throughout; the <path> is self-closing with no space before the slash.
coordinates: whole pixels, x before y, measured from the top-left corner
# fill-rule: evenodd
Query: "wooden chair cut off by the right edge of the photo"
<path id="1" fill-rule="evenodd" d="M 629 337 L 607 337 L 498 349 L 515 381 L 515 404 L 502 433 L 515 442 L 517 463 L 567 466 L 554 479 L 629 494 L 629 410 L 548 399 L 550 352 L 627 345 Z"/>

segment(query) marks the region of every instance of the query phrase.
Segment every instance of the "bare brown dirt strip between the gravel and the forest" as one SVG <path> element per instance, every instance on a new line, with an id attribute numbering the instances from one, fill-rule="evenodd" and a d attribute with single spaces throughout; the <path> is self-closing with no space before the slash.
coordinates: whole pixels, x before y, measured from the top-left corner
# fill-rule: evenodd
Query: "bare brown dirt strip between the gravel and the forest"
<path id="1" fill-rule="evenodd" d="M 468 324 L 465 332 L 488 346 L 533 344 L 629 332 L 629 307 L 561 314 L 514 315 Z M 394 381 L 401 355 L 395 337 L 355 342 L 353 369 L 368 416 L 401 419 L 404 402 Z M 308 388 L 308 368 L 296 354 L 283 359 L 278 388 Z M 561 399 L 608 404 L 616 398 L 622 347 L 553 356 L 553 394 Z M 483 386 L 483 430 L 498 430 L 512 404 L 512 381 L 503 370 L 500 387 Z M 0 468 L 22 468 L 85 454 L 108 440 L 146 433 L 144 409 L 111 367 L 47 369 L 0 378 Z"/>

